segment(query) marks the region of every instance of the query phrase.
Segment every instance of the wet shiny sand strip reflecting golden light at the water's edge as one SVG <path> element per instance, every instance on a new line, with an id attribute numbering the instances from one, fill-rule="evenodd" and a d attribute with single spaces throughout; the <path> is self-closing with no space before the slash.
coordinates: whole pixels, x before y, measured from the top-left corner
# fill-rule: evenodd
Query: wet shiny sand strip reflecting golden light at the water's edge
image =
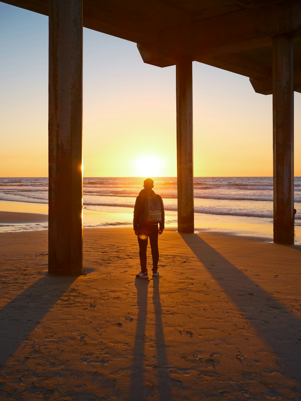
<path id="1" fill-rule="evenodd" d="M 129 209 L 102 207 L 99 211 L 93 211 L 84 207 L 83 227 L 131 227 L 133 211 Z M 0 201 L 0 232 L 47 230 L 47 215 L 47 203 Z M 11 221 L 8 216 L 12 217 Z M 176 212 L 166 212 L 165 229 L 177 231 Z M 195 213 L 195 233 L 205 232 L 273 242 L 273 220 L 264 217 Z M 295 226 L 295 244 L 301 244 L 301 226 L 299 225 Z"/>

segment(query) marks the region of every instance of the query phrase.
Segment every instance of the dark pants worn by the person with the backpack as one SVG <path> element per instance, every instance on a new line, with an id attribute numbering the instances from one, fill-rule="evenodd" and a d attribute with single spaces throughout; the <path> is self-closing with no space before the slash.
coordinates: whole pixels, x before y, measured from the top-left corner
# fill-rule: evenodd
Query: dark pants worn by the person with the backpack
<path id="1" fill-rule="evenodd" d="M 146 268 L 146 248 L 149 237 L 150 249 L 153 257 L 153 270 L 158 268 L 159 250 L 158 250 L 158 225 L 141 224 L 138 225 L 138 243 L 140 266 L 142 273 L 147 271 Z"/>

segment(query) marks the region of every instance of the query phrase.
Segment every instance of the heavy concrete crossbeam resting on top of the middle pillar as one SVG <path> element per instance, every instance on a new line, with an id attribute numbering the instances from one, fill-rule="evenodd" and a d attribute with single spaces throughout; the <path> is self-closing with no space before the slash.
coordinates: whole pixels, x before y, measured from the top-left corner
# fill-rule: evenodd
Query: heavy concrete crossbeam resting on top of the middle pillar
<path id="1" fill-rule="evenodd" d="M 239 53 L 240 59 L 245 51 L 270 46 L 273 36 L 286 32 L 299 35 L 300 29 L 301 2 L 285 0 L 164 29 L 157 41 L 140 43 L 138 50 L 144 63 L 159 67 L 176 64 L 178 57 L 210 65 L 211 57 Z M 260 65 L 256 54 L 254 61 Z"/>

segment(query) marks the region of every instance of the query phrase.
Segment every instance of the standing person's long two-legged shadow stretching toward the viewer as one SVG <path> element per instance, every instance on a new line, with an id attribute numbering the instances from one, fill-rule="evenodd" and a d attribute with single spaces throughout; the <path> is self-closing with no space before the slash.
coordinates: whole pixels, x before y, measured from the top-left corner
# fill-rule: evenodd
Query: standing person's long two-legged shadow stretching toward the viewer
<path id="1" fill-rule="evenodd" d="M 148 280 L 136 279 L 138 317 L 136 337 L 133 352 L 132 375 L 130 383 L 129 399 L 131 401 L 144 399 L 144 363 L 145 363 L 145 329 L 147 320 Z M 159 295 L 159 277 L 153 279 L 153 303 L 155 309 L 155 348 L 157 353 L 157 365 L 153 368 L 153 375 L 157 378 L 157 391 L 159 400 L 171 400 L 169 375 L 167 371 L 167 357 L 162 325 L 162 308 Z"/>

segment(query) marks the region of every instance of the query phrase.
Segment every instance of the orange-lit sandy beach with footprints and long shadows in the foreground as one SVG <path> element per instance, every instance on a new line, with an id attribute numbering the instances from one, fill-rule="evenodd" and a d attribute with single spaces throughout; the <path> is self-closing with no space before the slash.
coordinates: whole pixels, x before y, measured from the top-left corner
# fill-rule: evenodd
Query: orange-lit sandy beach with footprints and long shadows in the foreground
<path id="1" fill-rule="evenodd" d="M 300 245 L 164 231 L 139 280 L 130 227 L 84 229 L 80 277 L 0 241 L 0 399 L 301 399 Z"/>

